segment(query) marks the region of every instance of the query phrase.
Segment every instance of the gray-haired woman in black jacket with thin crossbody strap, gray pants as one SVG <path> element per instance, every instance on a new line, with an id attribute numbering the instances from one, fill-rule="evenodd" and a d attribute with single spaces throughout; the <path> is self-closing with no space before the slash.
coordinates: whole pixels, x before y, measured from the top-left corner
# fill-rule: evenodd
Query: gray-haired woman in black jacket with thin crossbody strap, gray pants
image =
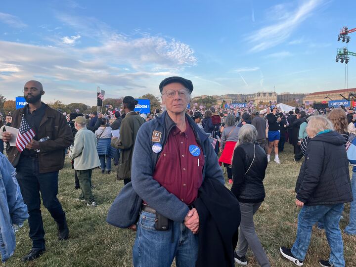
<path id="1" fill-rule="evenodd" d="M 263 180 L 267 169 L 267 156 L 257 143 L 257 136 L 253 125 L 242 126 L 233 151 L 231 192 L 239 200 L 241 209 L 240 234 L 234 258 L 237 264 L 247 265 L 246 253 L 250 247 L 260 266 L 270 267 L 253 221 L 254 214 L 266 197 Z"/>

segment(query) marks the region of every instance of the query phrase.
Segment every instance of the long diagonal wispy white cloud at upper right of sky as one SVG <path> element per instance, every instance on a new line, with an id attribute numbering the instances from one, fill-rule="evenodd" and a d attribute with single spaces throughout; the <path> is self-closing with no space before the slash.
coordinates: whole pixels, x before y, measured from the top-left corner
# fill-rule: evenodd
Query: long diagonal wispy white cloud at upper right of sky
<path id="1" fill-rule="evenodd" d="M 280 19 L 267 27 L 253 32 L 246 40 L 253 45 L 250 52 L 259 52 L 285 42 L 292 32 L 322 4 L 322 0 L 308 0 L 292 12 L 277 12 L 285 5 L 274 6 L 275 15 L 283 14 Z M 288 16 L 287 16 L 287 15 Z"/>

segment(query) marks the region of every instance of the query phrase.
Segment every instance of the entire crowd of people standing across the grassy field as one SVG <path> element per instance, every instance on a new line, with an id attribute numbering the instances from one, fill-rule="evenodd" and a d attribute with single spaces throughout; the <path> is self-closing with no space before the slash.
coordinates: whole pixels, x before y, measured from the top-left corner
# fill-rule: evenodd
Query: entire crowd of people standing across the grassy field
<path id="1" fill-rule="evenodd" d="M 57 198 L 58 174 L 67 155 L 74 186 L 81 191 L 76 200 L 90 207 L 98 205 L 92 171 L 100 168 L 105 175 L 114 170 L 112 164 L 117 166 L 124 187 L 107 221 L 137 231 L 134 266 L 166 267 L 174 259 L 177 266 L 247 265 L 250 247 L 257 262 L 268 267 L 253 217 L 266 198 L 267 166 L 281 164 L 279 153 L 289 142 L 294 161 L 304 158 L 295 187 L 301 211 L 296 240 L 291 248 L 281 246 L 280 253 L 302 266 L 317 224 L 330 247 L 328 260 L 319 264 L 346 266 L 339 228 L 345 203 L 351 202 L 351 209 L 344 232 L 356 235 L 356 166 L 351 181 L 347 154 L 356 137 L 352 108 L 297 107 L 285 112 L 271 104 L 260 111 L 249 103 L 243 108 L 187 109 L 190 80 L 169 77 L 159 90 L 162 114 L 159 109 L 153 114 L 135 112 L 132 96 L 123 98 L 120 110 L 62 114 L 41 101 L 45 91 L 40 82 L 25 84 L 28 104 L 7 114 L 6 123 L 0 118 L 0 186 L 7 195 L 1 205 L 9 211 L 0 214 L 7 218 L 0 219 L 1 229 L 8 229 L 0 234 L 3 262 L 13 254 L 14 232 L 26 219 L 32 248 L 23 261 L 45 252 L 40 193 L 57 224 L 58 239 L 69 238 Z M 17 136 L 7 126 L 19 129 Z M 10 145 L 14 139 L 16 145 Z M 272 152 L 275 163 L 270 162 Z"/>

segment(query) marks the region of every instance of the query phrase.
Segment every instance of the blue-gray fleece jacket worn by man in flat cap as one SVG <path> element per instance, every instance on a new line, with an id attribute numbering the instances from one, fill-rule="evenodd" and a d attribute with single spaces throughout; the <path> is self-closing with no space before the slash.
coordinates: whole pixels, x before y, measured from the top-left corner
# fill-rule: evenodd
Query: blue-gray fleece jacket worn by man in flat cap
<path id="1" fill-rule="evenodd" d="M 189 116 L 185 114 L 185 117 L 193 129 L 196 141 L 201 146 L 204 154 L 203 182 L 204 179 L 217 179 L 224 184 L 223 172 L 208 138 L 209 135 L 205 134 Z M 168 135 L 174 126 L 176 124 L 165 111 L 160 117 L 146 122 L 140 127 L 134 146 L 131 181 L 134 191 L 149 206 L 168 219 L 175 222 L 183 222 L 189 212 L 189 207 L 153 179 L 154 169 L 160 153 L 154 153 L 152 146 L 155 143 L 160 143 L 162 145 L 161 151 L 163 151 Z M 158 138 L 153 138 L 153 131 L 161 133 L 159 141 Z M 167 170 L 167 175 L 169 175 L 169 172 L 170 170 Z"/>

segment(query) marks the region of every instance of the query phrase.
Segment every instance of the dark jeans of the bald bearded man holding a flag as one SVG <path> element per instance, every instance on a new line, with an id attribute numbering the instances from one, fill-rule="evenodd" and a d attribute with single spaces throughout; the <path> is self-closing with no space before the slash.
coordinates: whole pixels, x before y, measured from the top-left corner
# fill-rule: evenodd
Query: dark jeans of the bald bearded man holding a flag
<path id="1" fill-rule="evenodd" d="M 20 158 L 16 172 L 22 197 L 30 215 L 28 223 L 32 248 L 45 249 L 40 192 L 45 208 L 58 226 L 63 226 L 66 222 L 65 213 L 57 199 L 58 172 L 40 174 L 38 159 L 24 157 Z"/>

